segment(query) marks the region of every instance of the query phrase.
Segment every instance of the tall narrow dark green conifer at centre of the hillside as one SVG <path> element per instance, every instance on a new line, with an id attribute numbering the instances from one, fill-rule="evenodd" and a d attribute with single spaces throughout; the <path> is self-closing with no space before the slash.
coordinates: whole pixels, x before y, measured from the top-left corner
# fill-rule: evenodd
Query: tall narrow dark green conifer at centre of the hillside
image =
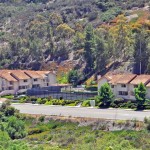
<path id="1" fill-rule="evenodd" d="M 84 58 L 86 60 L 87 72 L 93 70 L 95 60 L 95 36 L 92 25 L 86 27 L 85 45 L 84 45 Z"/>

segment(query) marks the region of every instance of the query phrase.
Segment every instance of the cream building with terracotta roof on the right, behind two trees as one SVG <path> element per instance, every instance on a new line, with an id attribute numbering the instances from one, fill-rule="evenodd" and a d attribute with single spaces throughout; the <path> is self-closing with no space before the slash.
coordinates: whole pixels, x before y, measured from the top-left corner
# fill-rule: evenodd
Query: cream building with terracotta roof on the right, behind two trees
<path id="1" fill-rule="evenodd" d="M 150 98 L 150 75 L 136 75 L 136 74 L 115 74 L 112 78 L 103 76 L 98 81 L 98 89 L 103 83 L 109 83 L 116 98 L 123 98 L 129 100 L 136 100 L 134 89 L 143 83 L 147 88 L 147 98 Z"/>

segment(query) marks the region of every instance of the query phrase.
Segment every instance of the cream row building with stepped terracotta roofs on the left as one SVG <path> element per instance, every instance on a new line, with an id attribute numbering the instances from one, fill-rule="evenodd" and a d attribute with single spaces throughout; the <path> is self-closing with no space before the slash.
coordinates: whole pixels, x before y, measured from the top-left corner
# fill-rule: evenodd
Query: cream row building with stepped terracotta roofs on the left
<path id="1" fill-rule="evenodd" d="M 56 84 L 56 74 L 50 71 L 0 70 L 0 95 L 23 93 L 51 84 Z"/>

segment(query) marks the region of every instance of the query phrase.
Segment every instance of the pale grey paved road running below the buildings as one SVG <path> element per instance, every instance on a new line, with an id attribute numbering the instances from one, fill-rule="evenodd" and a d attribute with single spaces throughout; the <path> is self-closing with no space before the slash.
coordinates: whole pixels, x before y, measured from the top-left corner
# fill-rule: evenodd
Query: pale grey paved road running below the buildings
<path id="1" fill-rule="evenodd" d="M 72 117 L 105 118 L 143 121 L 144 117 L 150 117 L 150 111 L 131 111 L 122 109 L 96 109 L 65 106 L 45 106 L 36 104 L 12 104 L 21 113 L 59 115 Z"/>

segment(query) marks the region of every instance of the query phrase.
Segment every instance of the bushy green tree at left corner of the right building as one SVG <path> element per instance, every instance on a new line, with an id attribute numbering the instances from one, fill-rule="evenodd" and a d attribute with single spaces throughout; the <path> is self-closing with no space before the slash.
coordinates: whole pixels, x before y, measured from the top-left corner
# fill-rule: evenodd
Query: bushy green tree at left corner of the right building
<path id="1" fill-rule="evenodd" d="M 110 88 L 110 85 L 108 83 L 105 83 L 101 86 L 99 90 L 99 96 L 101 98 L 101 101 L 105 106 L 109 106 L 111 101 L 114 98 L 114 94 Z"/>

